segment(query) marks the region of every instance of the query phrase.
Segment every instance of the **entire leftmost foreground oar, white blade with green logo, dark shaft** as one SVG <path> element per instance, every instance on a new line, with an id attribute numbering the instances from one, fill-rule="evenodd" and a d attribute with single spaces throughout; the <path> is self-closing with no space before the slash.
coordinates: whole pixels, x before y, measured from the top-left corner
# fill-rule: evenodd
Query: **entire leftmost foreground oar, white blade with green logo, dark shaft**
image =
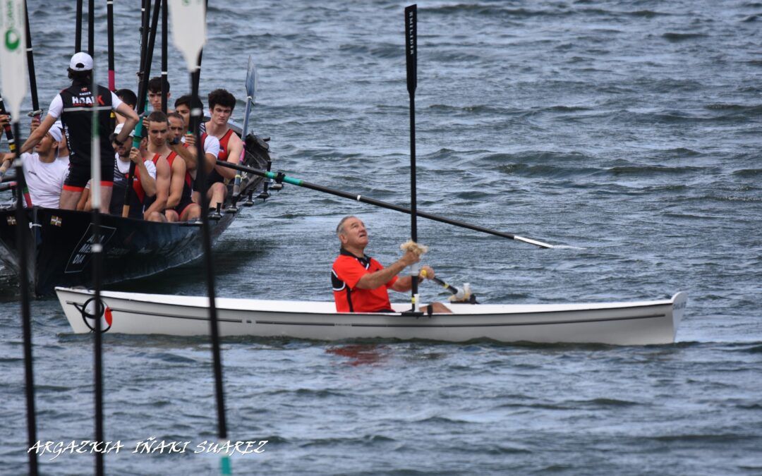
<path id="1" fill-rule="evenodd" d="M 8 101 L 13 118 L 14 136 L 21 137 L 18 126 L 18 117 L 21 113 L 21 103 L 27 95 L 27 65 L 24 46 L 26 41 L 26 25 L 24 24 L 25 5 L 24 0 L 6 0 L 0 8 L 0 24 L 5 29 L 4 41 L 0 42 L 0 81 L 2 81 L 2 94 Z M 16 153 L 16 180 L 19 188 L 26 186 L 24 180 L 24 168 L 22 166 L 19 149 L 14 148 Z M 37 442 L 37 417 L 34 410 L 34 371 L 32 360 L 32 319 L 29 304 L 29 270 L 28 248 L 31 239 L 27 225 L 27 213 L 21 193 L 16 194 L 16 247 L 18 248 L 19 284 L 21 286 L 21 324 L 24 334 L 24 377 L 26 380 L 27 397 L 27 448 L 32 448 Z M 27 451 L 29 458 L 29 474 L 37 474 L 37 452 Z M 21 471 L 19 471 L 21 472 Z"/>

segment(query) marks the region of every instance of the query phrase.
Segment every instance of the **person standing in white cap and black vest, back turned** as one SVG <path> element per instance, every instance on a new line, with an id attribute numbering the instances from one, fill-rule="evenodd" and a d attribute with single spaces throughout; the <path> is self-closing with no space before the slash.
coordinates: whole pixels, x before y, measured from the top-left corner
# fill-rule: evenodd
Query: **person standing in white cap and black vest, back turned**
<path id="1" fill-rule="evenodd" d="M 75 209 L 85 184 L 90 180 L 92 108 L 98 108 L 98 136 L 101 149 L 101 212 L 108 212 L 114 176 L 114 147 L 109 140 L 110 111 L 116 110 L 127 118 L 124 128 L 114 138 L 123 143 L 135 127 L 138 116 L 123 104 L 116 94 L 98 85 L 91 91 L 93 59 L 87 53 L 76 53 L 69 62 L 69 78 L 72 85 L 64 89 L 50 103 L 48 113 L 40 126 L 30 134 L 21 152 L 32 149 L 60 117 L 69 145 L 69 176 L 61 193 L 61 208 Z"/>

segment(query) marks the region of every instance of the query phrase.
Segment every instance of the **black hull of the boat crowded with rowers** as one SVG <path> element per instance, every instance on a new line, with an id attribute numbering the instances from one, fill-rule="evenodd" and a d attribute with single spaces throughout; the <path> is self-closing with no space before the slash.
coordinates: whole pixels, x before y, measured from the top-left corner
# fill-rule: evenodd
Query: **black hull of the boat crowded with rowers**
<path id="1" fill-rule="evenodd" d="M 90 212 L 27 209 L 33 225 L 27 235 L 31 289 L 37 296 L 55 286 L 92 286 Z M 210 220 L 212 239 L 228 228 L 236 214 Z M 0 258 L 18 273 L 18 243 L 14 209 L 0 210 Z M 117 283 L 150 276 L 201 256 L 201 228 L 197 224 L 158 223 L 101 216 L 104 245 L 102 280 Z"/>

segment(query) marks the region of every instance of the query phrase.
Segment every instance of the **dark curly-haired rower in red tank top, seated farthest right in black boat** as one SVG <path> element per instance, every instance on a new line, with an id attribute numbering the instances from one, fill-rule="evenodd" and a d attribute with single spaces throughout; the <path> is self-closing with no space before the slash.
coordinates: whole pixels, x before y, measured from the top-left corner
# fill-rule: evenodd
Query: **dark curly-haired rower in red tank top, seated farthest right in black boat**
<path id="1" fill-rule="evenodd" d="M 205 123 L 207 134 L 219 139 L 221 161 L 238 164 L 243 151 L 243 142 L 228 126 L 228 120 L 235 108 L 235 97 L 224 89 L 215 89 L 209 94 L 210 120 Z M 216 165 L 207 178 L 207 196 L 209 206 L 215 209 L 217 203 L 223 203 L 228 193 L 226 180 L 235 179 L 235 170 Z"/>

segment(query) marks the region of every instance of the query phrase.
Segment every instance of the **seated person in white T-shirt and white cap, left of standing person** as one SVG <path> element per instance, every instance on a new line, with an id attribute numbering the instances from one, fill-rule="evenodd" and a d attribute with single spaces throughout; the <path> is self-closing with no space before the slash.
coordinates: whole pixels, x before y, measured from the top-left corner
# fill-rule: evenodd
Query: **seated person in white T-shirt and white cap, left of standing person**
<path id="1" fill-rule="evenodd" d="M 33 121 L 31 132 L 38 127 L 39 123 Z M 63 131 L 53 126 L 34 146 L 33 153 L 21 154 L 24 179 L 27 182 L 27 190 L 29 190 L 29 198 L 33 206 L 59 208 L 61 189 L 66 180 L 66 174 L 69 173 L 69 165 L 56 159 L 62 135 Z M 5 165 L 10 164 L 14 157 L 15 154 L 12 153 L 5 155 L 0 174 L 5 173 Z"/>

